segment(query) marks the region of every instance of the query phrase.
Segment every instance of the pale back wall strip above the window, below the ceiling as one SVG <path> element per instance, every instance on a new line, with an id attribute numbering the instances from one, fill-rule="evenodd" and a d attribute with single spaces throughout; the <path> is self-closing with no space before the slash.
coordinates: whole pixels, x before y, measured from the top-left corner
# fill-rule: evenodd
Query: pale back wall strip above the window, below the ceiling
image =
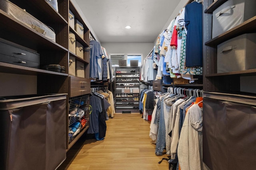
<path id="1" fill-rule="evenodd" d="M 142 54 L 147 57 L 154 47 L 154 43 L 101 43 L 109 54 Z M 143 60 L 142 59 L 142 60 Z"/>

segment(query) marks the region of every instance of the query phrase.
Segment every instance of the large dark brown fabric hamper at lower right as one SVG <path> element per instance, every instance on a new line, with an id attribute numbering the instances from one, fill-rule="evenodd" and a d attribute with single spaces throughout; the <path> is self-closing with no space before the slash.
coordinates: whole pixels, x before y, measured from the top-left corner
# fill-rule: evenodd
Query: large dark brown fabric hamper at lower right
<path id="1" fill-rule="evenodd" d="M 256 96 L 204 92 L 203 105 L 204 163 L 211 170 L 254 170 Z"/>

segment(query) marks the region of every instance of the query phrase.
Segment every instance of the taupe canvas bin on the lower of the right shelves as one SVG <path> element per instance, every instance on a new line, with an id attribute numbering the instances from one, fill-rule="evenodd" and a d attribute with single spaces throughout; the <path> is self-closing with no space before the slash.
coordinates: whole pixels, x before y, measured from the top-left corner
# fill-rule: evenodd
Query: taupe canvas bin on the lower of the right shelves
<path id="1" fill-rule="evenodd" d="M 217 73 L 256 68 L 256 33 L 243 34 L 217 47 Z"/>

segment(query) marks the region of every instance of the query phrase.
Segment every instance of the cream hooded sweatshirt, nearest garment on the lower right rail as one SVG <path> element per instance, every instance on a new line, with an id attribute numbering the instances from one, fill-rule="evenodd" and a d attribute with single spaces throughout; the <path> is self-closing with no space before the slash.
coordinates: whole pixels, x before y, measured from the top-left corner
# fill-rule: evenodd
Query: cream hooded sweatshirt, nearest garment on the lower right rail
<path id="1" fill-rule="evenodd" d="M 192 105 L 182 125 L 178 144 L 178 159 L 182 170 L 203 170 L 202 108 Z"/>

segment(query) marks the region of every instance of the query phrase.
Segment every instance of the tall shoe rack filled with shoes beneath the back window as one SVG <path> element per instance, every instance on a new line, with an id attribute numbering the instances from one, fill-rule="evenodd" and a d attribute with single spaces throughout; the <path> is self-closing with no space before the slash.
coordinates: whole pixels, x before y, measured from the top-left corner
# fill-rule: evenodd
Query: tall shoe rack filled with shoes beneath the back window
<path id="1" fill-rule="evenodd" d="M 116 113 L 139 112 L 140 67 L 116 67 Z"/>

